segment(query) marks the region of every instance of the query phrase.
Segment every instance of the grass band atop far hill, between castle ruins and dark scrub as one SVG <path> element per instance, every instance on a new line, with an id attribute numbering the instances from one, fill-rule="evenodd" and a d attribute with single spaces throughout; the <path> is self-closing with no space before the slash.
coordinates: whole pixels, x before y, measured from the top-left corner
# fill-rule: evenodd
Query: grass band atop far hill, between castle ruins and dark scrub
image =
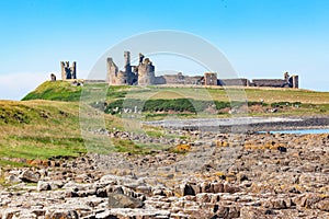
<path id="1" fill-rule="evenodd" d="M 81 90 L 84 94 L 93 90 L 103 89 L 106 84 L 86 84 L 72 87 L 69 82 L 44 82 L 35 91 L 29 93 L 23 100 L 52 100 L 52 101 L 80 101 Z M 196 100 L 248 100 L 258 102 L 261 99 L 265 103 L 273 102 L 302 102 L 313 104 L 328 104 L 329 92 L 316 92 L 295 89 L 259 89 L 259 88 L 182 88 L 182 87 L 111 87 L 106 94 L 109 101 L 120 97 L 132 99 L 196 99 Z"/>

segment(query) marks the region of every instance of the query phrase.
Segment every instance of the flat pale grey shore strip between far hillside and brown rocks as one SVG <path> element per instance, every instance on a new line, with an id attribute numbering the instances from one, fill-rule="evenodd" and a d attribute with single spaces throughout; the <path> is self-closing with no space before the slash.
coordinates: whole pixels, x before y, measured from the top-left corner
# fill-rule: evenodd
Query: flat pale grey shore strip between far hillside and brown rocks
<path id="1" fill-rule="evenodd" d="M 196 118 L 146 122 L 145 124 L 183 130 L 257 132 L 274 130 L 326 129 L 329 128 L 329 116 Z"/>

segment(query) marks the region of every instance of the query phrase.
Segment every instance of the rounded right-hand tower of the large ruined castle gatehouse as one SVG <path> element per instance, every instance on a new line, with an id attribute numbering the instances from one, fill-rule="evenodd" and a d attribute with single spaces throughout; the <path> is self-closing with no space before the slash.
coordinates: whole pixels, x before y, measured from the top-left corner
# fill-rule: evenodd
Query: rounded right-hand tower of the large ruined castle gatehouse
<path id="1" fill-rule="evenodd" d="M 141 59 L 141 60 L 140 60 Z M 155 83 L 155 66 L 152 62 L 144 56 L 139 55 L 139 66 L 138 66 L 138 85 L 150 85 Z"/>

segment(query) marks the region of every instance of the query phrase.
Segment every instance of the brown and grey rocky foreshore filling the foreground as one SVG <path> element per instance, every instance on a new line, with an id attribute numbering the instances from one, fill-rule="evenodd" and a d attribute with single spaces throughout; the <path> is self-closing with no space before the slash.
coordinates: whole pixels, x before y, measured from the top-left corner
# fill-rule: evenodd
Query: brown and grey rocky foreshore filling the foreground
<path id="1" fill-rule="evenodd" d="M 2 168 L 0 218 L 329 218 L 329 135 L 185 131 L 179 153 Z"/>

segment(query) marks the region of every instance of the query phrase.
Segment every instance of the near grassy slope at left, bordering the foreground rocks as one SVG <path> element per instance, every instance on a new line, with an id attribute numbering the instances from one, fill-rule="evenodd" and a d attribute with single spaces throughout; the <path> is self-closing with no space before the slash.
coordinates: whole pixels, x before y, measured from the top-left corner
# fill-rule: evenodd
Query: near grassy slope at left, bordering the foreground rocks
<path id="1" fill-rule="evenodd" d="M 79 115 L 80 112 L 86 114 Z M 80 119 L 87 125 L 80 126 Z M 103 124 L 107 129 L 123 129 L 120 118 L 79 102 L 0 101 L 0 166 L 22 165 L 24 160 L 77 157 L 87 151 L 144 153 L 151 149 L 128 140 L 110 141 L 88 131 L 100 129 Z"/>

